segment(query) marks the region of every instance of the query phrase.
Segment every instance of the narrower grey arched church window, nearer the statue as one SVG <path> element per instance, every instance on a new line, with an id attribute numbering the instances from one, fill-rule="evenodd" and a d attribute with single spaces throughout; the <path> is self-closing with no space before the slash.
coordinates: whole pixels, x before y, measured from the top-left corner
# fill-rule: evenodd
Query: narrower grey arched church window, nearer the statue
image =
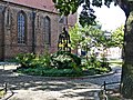
<path id="1" fill-rule="evenodd" d="M 51 21 L 49 17 L 44 18 L 44 43 L 51 44 Z"/>

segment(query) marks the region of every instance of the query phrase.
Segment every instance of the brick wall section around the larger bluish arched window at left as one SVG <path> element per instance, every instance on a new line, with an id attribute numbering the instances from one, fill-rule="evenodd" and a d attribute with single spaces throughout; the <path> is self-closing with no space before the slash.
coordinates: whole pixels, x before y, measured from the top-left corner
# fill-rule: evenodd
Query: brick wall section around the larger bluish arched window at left
<path id="1" fill-rule="evenodd" d="M 31 11 L 27 8 L 18 6 L 9 6 L 10 9 L 10 24 L 8 26 L 7 19 L 4 20 L 4 58 L 16 57 L 18 53 L 31 52 L 32 41 L 32 24 L 30 13 Z M 8 9 L 7 8 L 7 9 Z M 17 16 L 19 11 L 24 11 L 27 16 L 27 43 L 18 44 L 18 30 L 17 30 Z M 7 13 L 7 12 L 6 12 Z"/>

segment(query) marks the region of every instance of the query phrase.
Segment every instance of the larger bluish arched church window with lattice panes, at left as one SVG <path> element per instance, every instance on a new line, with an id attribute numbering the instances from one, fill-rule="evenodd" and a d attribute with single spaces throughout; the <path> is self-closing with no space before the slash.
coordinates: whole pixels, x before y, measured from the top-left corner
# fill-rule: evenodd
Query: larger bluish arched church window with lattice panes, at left
<path id="1" fill-rule="evenodd" d="M 27 32 L 27 21 L 25 21 L 25 13 L 19 12 L 18 13 L 18 43 L 25 43 L 25 32 Z"/>

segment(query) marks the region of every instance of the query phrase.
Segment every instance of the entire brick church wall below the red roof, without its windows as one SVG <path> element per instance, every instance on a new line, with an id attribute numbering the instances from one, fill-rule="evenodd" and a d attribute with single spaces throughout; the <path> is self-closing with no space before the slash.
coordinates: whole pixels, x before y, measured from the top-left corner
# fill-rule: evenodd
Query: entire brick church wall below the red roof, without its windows
<path id="1" fill-rule="evenodd" d="M 1 2 L 0 2 L 1 3 Z M 9 9 L 9 10 L 8 10 Z M 27 16 L 27 43 L 18 44 L 18 30 L 17 30 L 17 14 L 19 11 L 24 11 Z M 17 6 L 9 3 L 6 9 L 4 18 L 4 58 L 13 58 L 18 53 L 32 52 L 32 10 L 35 11 L 35 28 L 34 28 L 34 41 L 35 41 L 35 53 L 43 53 L 47 50 L 49 52 L 57 51 L 57 41 L 58 41 L 58 14 L 52 12 L 45 12 L 43 10 L 37 10 L 23 6 Z M 7 13 L 10 12 L 9 23 L 7 22 Z M 1 12 L 0 12 L 1 14 Z M 43 33 L 43 18 L 48 16 L 51 19 L 51 46 L 45 46 L 44 43 L 44 33 Z M 1 37 L 1 16 L 0 16 L 0 47 L 2 43 Z M 0 58 L 1 58 L 1 48 L 0 48 Z"/>

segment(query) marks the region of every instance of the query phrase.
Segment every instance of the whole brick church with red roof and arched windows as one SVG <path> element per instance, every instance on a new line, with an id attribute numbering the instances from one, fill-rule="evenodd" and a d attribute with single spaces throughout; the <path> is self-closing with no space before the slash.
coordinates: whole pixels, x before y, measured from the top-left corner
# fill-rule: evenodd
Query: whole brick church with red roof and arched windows
<path id="1" fill-rule="evenodd" d="M 0 60 L 55 52 L 62 28 L 74 26 L 76 13 L 65 19 L 52 0 L 0 0 Z"/>

